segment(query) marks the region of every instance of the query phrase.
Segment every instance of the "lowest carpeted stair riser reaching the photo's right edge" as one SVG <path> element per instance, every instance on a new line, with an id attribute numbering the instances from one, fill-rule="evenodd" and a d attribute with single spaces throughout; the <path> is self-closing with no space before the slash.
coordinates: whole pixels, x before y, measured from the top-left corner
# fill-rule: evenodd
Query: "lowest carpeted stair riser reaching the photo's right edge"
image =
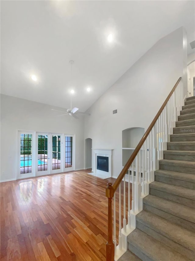
<path id="1" fill-rule="evenodd" d="M 143 231 L 144 233 L 148 234 L 149 236 L 155 238 L 156 240 L 162 242 L 163 244 L 167 245 L 168 247 L 174 249 L 178 253 L 182 254 L 183 256 L 186 256 L 187 258 L 193 260 L 194 254 L 192 251 L 187 249 L 185 246 L 179 245 L 177 242 L 172 241 L 171 239 L 167 238 L 166 236 L 158 233 L 157 231 L 153 230 L 150 227 L 147 227 L 147 225 L 140 223 L 139 221 L 136 221 L 136 227 Z"/>

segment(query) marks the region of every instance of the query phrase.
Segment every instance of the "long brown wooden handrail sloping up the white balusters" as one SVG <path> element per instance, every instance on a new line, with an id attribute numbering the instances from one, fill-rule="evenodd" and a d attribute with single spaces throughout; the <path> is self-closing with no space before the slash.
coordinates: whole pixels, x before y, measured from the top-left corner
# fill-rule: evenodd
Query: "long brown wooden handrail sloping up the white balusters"
<path id="1" fill-rule="evenodd" d="M 177 85 L 179 84 L 180 80 L 182 77 L 179 77 L 179 79 L 177 80 L 176 84 L 174 85 L 174 87 L 172 88 L 172 90 L 170 91 L 169 95 L 167 96 L 165 102 L 163 103 L 163 105 L 161 106 L 161 108 L 159 109 L 158 113 L 156 114 L 156 116 L 154 117 L 154 120 L 151 122 L 150 126 L 148 127 L 147 131 L 144 133 L 144 136 L 141 138 L 140 142 L 138 143 L 137 147 L 135 148 L 134 152 L 132 153 L 132 155 L 130 156 L 129 160 L 127 161 L 127 163 L 125 164 L 124 168 L 122 169 L 121 173 L 119 174 L 119 176 L 117 177 L 115 183 L 112 185 L 112 189 L 113 192 L 115 192 L 119 186 L 119 184 L 121 183 L 123 177 L 125 176 L 127 170 L 129 169 L 129 167 L 131 166 L 133 160 L 135 159 L 137 153 L 140 151 L 140 148 L 143 146 L 144 141 L 146 140 L 147 136 L 149 135 L 149 133 L 151 132 L 152 128 L 154 127 L 154 124 L 156 123 L 156 121 L 158 120 L 159 116 L 161 115 L 163 109 L 165 108 L 165 105 L 167 104 L 168 100 L 170 99 L 171 95 L 173 94 L 173 92 L 175 91 Z"/>

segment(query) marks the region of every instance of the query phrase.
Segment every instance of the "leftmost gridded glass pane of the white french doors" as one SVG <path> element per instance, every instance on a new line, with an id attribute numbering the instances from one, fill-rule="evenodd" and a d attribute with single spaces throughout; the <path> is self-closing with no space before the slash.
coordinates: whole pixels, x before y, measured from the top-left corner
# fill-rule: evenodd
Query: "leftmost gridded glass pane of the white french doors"
<path id="1" fill-rule="evenodd" d="M 32 134 L 20 134 L 20 174 L 32 173 Z"/>

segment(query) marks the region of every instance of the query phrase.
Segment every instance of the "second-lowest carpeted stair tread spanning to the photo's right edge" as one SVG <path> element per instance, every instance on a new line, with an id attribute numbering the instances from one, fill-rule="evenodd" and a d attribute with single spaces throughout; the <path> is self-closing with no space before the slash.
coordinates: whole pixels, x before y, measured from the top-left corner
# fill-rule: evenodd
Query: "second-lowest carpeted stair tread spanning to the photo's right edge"
<path id="1" fill-rule="evenodd" d="M 144 204 L 160 209 L 174 216 L 178 216 L 183 220 L 188 220 L 194 223 L 195 226 L 194 209 L 188 206 L 184 206 L 176 202 L 172 202 L 167 199 L 160 198 L 153 195 L 148 195 L 147 197 L 143 198 L 143 202 Z"/>

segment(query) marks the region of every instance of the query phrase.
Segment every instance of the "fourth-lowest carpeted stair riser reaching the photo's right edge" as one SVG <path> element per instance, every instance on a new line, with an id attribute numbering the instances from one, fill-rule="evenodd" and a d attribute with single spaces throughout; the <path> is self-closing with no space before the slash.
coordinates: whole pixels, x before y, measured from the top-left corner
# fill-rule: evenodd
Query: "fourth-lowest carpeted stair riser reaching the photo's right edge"
<path id="1" fill-rule="evenodd" d="M 189 182 L 189 181 L 183 181 L 183 180 L 178 180 L 178 179 L 172 179 L 169 177 L 162 177 L 162 176 L 155 176 L 154 177 L 155 181 L 163 182 L 166 184 L 171 184 L 175 186 L 180 186 L 184 188 L 190 188 L 190 189 L 195 189 L 195 183 Z"/>

